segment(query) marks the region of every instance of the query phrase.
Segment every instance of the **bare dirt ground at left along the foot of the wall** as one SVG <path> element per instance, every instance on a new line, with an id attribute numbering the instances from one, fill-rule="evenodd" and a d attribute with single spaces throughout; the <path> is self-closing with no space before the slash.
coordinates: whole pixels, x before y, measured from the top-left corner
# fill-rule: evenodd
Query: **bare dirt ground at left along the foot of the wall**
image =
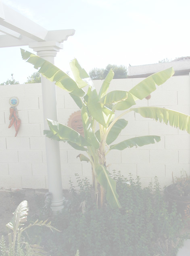
<path id="1" fill-rule="evenodd" d="M 0 237 L 7 235 L 6 224 L 12 219 L 13 212 L 21 201 L 28 201 L 30 217 L 38 215 L 47 192 L 48 190 L 44 189 L 0 190 Z"/>

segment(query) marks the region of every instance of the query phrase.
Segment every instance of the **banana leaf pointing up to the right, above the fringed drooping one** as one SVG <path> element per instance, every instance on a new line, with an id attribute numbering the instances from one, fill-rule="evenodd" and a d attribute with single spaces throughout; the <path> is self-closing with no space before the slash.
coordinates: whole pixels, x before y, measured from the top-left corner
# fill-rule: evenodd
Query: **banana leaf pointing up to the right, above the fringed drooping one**
<path id="1" fill-rule="evenodd" d="M 125 101 L 120 101 L 113 107 L 113 110 L 125 110 L 133 105 L 136 105 L 135 101 L 144 99 L 151 92 L 156 90 L 156 85 L 161 85 L 166 82 L 171 76 L 173 76 L 173 67 L 159 71 L 148 78 L 145 78 L 142 82 L 134 86 L 128 92 L 128 97 Z"/>

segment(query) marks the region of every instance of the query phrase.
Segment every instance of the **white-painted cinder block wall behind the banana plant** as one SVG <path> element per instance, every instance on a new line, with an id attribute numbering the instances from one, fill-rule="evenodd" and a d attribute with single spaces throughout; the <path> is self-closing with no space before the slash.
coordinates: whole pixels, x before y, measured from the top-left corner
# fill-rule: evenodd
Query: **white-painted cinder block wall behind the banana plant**
<path id="1" fill-rule="evenodd" d="M 109 90 L 130 90 L 142 79 L 115 79 Z M 94 81 L 99 90 L 102 81 Z M 46 152 L 43 136 L 43 109 L 41 84 L 0 86 L 0 188 L 48 188 Z M 9 124 L 9 99 L 19 98 L 21 128 L 15 138 L 15 129 Z M 69 94 L 57 88 L 58 121 L 67 124 L 69 116 L 78 110 Z M 136 106 L 159 106 L 190 115 L 190 76 L 175 76 L 159 86 L 151 99 L 137 101 Z M 118 111 L 116 115 L 119 115 Z M 129 121 L 117 142 L 143 135 L 160 135 L 161 141 L 144 147 L 113 150 L 107 155 L 109 170 L 120 170 L 124 176 L 132 173 L 141 177 L 143 186 L 159 177 L 161 186 L 169 185 L 173 176 L 182 170 L 190 174 L 190 136 L 187 132 L 160 124 L 130 112 Z M 91 180 L 90 164 L 79 161 L 79 151 L 67 143 L 60 143 L 63 189 L 69 189 L 69 180 L 76 184 L 75 173 Z M 84 152 L 83 152 L 84 153 Z"/>

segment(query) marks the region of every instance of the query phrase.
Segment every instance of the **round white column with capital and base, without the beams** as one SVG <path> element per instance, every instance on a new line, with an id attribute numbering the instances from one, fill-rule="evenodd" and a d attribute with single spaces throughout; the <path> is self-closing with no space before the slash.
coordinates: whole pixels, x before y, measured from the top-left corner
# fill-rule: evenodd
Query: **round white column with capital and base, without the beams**
<path id="1" fill-rule="evenodd" d="M 54 64 L 54 57 L 57 52 L 63 48 L 58 42 L 35 42 L 29 44 L 29 47 L 37 52 L 37 55 Z M 57 121 L 57 102 L 56 102 L 56 85 L 42 76 L 42 100 L 44 111 L 44 129 L 49 130 L 46 119 Z M 52 193 L 52 210 L 63 209 L 63 188 L 61 180 L 61 161 L 59 142 L 45 138 L 46 140 L 46 157 L 48 169 L 48 187 Z"/>

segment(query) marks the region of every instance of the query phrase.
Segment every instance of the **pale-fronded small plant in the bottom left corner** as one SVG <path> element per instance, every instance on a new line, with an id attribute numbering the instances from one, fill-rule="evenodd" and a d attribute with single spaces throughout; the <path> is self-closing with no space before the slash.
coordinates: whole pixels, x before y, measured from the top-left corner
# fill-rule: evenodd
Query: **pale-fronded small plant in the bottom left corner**
<path id="1" fill-rule="evenodd" d="M 47 223 L 48 220 L 36 220 L 34 223 L 25 226 L 24 222 L 27 221 L 28 210 L 28 202 L 26 200 L 22 201 L 13 213 L 12 220 L 6 224 L 9 229 L 8 246 L 2 236 L 0 240 L 0 256 L 40 256 L 46 254 L 41 246 L 31 245 L 25 241 L 23 233 L 34 226 L 47 227 L 51 231 L 58 231 L 58 229 L 52 227 L 51 222 Z"/>

